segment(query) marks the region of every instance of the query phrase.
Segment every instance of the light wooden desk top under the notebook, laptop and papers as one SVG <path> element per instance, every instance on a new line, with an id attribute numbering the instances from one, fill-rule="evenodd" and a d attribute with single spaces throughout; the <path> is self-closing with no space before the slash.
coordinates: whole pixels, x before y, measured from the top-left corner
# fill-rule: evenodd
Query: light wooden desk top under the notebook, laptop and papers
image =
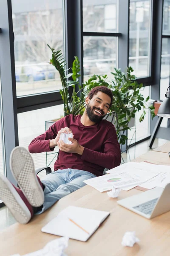
<path id="1" fill-rule="evenodd" d="M 166 160 L 166 158 L 168 160 Z M 165 153 L 150 151 L 135 161 L 150 160 L 153 163 L 170 164 Z M 169 162 L 168 162 L 169 161 Z M 119 200 L 142 193 L 132 189 L 121 191 Z M 0 256 L 14 253 L 24 255 L 39 250 L 48 241 L 58 236 L 42 233 L 41 228 L 68 205 L 110 211 L 111 215 L 87 242 L 70 239 L 65 253 L 68 256 L 169 256 L 170 255 L 170 212 L 152 220 L 119 206 L 117 198 L 109 198 L 91 186 L 84 186 L 65 198 L 60 199 L 51 209 L 34 218 L 26 225 L 14 224 L 0 232 Z M 140 239 L 134 247 L 123 247 L 122 237 L 126 231 L 136 231 Z"/>

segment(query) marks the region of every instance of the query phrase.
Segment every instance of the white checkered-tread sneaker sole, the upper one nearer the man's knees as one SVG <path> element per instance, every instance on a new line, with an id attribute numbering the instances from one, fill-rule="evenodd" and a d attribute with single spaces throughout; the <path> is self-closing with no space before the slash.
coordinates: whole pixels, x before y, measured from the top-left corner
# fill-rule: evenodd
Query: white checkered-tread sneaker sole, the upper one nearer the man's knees
<path id="1" fill-rule="evenodd" d="M 39 207 L 44 203 L 44 192 L 37 179 L 34 162 L 26 148 L 17 146 L 11 151 L 10 168 L 28 202 Z"/>

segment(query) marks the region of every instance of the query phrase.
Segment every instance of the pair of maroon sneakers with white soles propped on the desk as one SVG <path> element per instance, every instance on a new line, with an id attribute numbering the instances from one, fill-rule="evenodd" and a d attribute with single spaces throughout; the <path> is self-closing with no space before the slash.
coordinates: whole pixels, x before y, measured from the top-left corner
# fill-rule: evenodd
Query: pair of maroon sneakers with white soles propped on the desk
<path id="1" fill-rule="evenodd" d="M 34 162 L 25 148 L 16 147 L 11 151 L 10 167 L 21 189 L 0 175 L 0 198 L 14 218 L 26 224 L 34 214 L 33 207 L 40 207 L 44 202 L 43 186 L 35 175 Z"/>

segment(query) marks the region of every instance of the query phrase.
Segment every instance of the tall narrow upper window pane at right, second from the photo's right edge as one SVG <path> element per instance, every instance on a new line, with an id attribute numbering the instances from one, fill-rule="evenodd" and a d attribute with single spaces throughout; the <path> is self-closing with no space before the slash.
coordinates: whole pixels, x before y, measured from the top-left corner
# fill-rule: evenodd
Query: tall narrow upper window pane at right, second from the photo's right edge
<path id="1" fill-rule="evenodd" d="M 130 0 L 129 67 L 136 77 L 150 76 L 151 0 Z"/>

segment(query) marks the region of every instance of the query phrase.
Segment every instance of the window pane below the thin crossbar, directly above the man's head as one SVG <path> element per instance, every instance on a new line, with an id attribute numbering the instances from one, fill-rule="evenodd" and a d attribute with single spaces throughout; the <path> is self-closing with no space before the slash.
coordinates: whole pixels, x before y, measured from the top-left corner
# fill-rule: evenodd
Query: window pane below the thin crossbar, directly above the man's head
<path id="1" fill-rule="evenodd" d="M 109 75 L 116 67 L 117 38 L 84 36 L 83 49 L 84 80 L 94 74 Z"/>

